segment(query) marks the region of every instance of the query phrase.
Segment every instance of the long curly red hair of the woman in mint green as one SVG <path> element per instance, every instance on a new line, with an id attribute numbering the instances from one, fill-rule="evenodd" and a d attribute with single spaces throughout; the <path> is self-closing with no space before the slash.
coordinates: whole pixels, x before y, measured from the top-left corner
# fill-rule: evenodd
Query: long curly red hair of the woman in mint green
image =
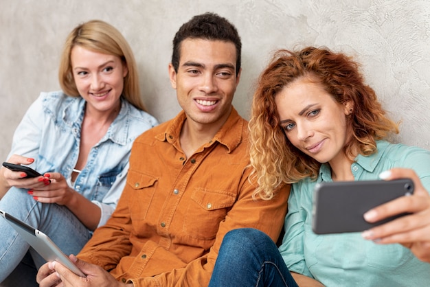
<path id="1" fill-rule="evenodd" d="M 398 125 L 385 115 L 374 90 L 365 84 L 359 64 L 352 58 L 324 47 L 278 50 L 258 79 L 251 107 L 251 179 L 258 183 L 254 196 L 270 199 L 284 183 L 318 176 L 321 163 L 288 141 L 275 105 L 275 96 L 302 77 L 319 82 L 339 104 L 352 101 L 354 108 L 346 127 L 351 137 L 343 148 L 351 160 L 357 156 L 357 150 L 365 156 L 373 154 L 377 139 L 398 133 Z"/>

